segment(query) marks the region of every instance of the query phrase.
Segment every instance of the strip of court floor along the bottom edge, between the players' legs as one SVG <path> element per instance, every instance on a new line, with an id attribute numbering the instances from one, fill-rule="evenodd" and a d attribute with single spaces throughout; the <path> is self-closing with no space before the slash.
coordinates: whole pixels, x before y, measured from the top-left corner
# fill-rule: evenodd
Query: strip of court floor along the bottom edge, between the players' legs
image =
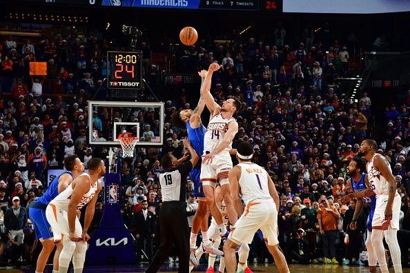
<path id="1" fill-rule="evenodd" d="M 99 265 L 99 266 L 86 266 L 84 268 L 84 273 L 129 273 L 129 272 L 144 272 L 148 265 Z M 249 266 L 251 270 L 255 273 L 257 272 L 278 272 L 275 265 L 251 265 Z M 175 264 L 168 264 L 161 267 L 162 271 L 159 273 L 174 273 L 177 272 Z M 349 267 L 346 265 L 289 265 L 289 270 L 291 273 L 367 273 L 369 272 L 369 267 Z M 35 270 L 32 269 L 21 269 L 21 270 L 0 270 L 0 272 L 7 273 L 34 273 Z M 51 273 L 52 270 L 48 267 L 44 273 Z M 72 272 L 69 270 L 68 272 Z M 193 272 L 206 272 L 206 265 L 201 265 L 195 268 Z M 380 269 L 378 269 L 380 272 Z M 390 272 L 394 272 L 393 268 L 390 268 Z M 403 273 L 410 273 L 409 268 L 403 268 Z"/>

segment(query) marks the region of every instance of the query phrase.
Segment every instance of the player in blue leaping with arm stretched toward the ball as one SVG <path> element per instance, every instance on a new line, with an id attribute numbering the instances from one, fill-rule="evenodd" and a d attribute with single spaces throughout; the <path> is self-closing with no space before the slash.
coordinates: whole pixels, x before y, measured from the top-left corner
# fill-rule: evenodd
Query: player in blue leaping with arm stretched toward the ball
<path id="1" fill-rule="evenodd" d="M 173 114 L 172 123 L 177 125 L 179 128 L 186 128 L 188 130 L 188 139 L 191 141 L 191 145 L 193 146 L 195 152 L 197 154 L 204 154 L 204 135 L 206 129 L 202 124 L 201 114 L 205 107 L 205 101 L 202 97 L 203 90 L 211 88 L 211 77 L 208 77 L 208 80 L 205 80 L 207 71 L 202 70 L 198 72 L 199 76 L 202 78 L 201 84 L 201 97 L 199 98 L 197 107 L 194 110 L 191 109 L 184 109 L 181 111 L 177 111 Z M 193 265 L 199 265 L 196 257 L 195 257 L 195 248 L 196 248 L 196 241 L 197 241 L 197 233 L 199 232 L 199 228 L 201 228 L 202 233 L 202 245 L 204 250 L 207 253 L 213 253 L 216 255 L 222 255 L 223 252 L 220 250 L 215 249 L 213 247 L 212 242 L 209 240 L 208 237 L 208 205 L 206 203 L 206 196 L 204 191 L 202 190 L 202 183 L 200 183 L 199 176 L 201 174 L 201 163 L 199 161 L 197 165 L 193 168 L 193 170 L 189 173 L 189 176 L 194 182 L 194 193 L 195 196 L 198 198 L 198 210 L 195 213 L 192 229 L 191 229 L 191 255 L 190 260 Z"/>

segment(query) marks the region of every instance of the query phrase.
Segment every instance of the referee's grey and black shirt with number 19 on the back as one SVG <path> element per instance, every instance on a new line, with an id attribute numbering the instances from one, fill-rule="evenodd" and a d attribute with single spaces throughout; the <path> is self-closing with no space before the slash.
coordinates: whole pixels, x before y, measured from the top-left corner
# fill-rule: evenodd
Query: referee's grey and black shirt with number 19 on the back
<path id="1" fill-rule="evenodd" d="M 162 189 L 162 201 L 186 202 L 186 176 L 192 170 L 192 163 L 188 161 L 177 168 L 164 170 L 159 174 Z"/>

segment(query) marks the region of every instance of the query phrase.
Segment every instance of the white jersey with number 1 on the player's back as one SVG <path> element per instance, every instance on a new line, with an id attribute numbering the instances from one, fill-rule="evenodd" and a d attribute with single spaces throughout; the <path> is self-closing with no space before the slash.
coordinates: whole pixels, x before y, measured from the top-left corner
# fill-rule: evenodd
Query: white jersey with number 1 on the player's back
<path id="1" fill-rule="evenodd" d="M 268 173 L 255 163 L 240 163 L 241 177 L 239 180 L 242 199 L 246 205 L 255 200 L 271 200 L 269 193 Z"/>

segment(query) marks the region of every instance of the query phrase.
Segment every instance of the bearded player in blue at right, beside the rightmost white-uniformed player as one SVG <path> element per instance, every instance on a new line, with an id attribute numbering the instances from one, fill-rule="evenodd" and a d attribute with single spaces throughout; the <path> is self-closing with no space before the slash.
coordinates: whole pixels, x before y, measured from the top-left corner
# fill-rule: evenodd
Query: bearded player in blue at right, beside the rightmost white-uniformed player
<path id="1" fill-rule="evenodd" d="M 346 187 L 349 187 L 349 183 L 353 192 L 347 194 L 342 198 L 342 203 L 348 203 L 351 199 L 357 198 L 358 202 L 356 204 L 355 212 L 353 214 L 353 219 L 349 228 L 355 230 L 356 219 L 362 210 L 363 203 L 367 203 L 370 207 L 369 219 L 367 219 L 367 239 L 366 247 L 369 261 L 370 272 L 376 272 L 376 256 L 373 251 L 373 245 L 371 243 L 371 222 L 373 221 L 373 214 L 375 210 L 375 193 L 370 188 L 369 178 L 367 174 L 363 173 L 366 170 L 366 161 L 362 158 L 355 157 L 347 166 L 347 172 L 349 173 L 350 179 L 347 182 Z"/>

